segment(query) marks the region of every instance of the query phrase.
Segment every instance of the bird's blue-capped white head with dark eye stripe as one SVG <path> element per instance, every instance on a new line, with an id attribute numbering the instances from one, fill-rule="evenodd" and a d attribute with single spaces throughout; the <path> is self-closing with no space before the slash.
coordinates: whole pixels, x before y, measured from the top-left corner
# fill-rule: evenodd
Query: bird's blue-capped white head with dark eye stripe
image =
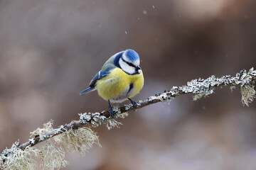
<path id="1" fill-rule="evenodd" d="M 125 50 L 119 58 L 119 66 L 127 74 L 140 74 L 139 55 L 134 50 Z"/>

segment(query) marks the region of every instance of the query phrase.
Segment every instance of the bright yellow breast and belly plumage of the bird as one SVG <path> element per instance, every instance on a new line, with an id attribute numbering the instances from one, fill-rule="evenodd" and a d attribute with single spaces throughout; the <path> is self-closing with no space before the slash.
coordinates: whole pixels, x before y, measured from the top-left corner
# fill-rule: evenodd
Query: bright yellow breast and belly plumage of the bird
<path id="1" fill-rule="evenodd" d="M 130 84 L 132 84 L 132 94 L 128 94 Z M 132 98 L 144 86 L 143 73 L 129 75 L 122 69 L 115 68 L 110 75 L 100 79 L 96 82 L 95 88 L 99 96 L 105 100 L 119 100 L 122 101 L 126 98 Z"/>

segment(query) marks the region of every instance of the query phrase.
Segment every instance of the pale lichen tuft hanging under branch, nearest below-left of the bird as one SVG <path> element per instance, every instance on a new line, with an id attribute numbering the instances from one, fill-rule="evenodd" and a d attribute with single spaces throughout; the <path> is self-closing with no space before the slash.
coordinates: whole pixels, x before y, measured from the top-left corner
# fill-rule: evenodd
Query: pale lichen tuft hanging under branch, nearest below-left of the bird
<path id="1" fill-rule="evenodd" d="M 63 145 L 69 152 L 78 151 L 80 154 L 88 152 L 94 143 L 100 146 L 96 132 L 93 132 L 90 128 L 70 129 L 61 135 L 55 136 L 54 140 Z"/>

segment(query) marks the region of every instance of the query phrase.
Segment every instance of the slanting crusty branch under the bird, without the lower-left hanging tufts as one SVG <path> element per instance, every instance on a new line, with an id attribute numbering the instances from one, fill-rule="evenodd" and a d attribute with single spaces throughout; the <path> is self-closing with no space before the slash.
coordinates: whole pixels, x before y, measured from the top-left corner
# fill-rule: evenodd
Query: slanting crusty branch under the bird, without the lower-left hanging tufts
<path id="1" fill-rule="evenodd" d="M 255 81 L 256 81 L 256 71 L 253 67 L 246 72 L 245 69 L 240 71 L 235 77 L 229 75 L 216 78 L 215 76 L 208 77 L 208 79 L 193 79 L 189 81 L 187 85 L 184 86 L 174 86 L 170 91 L 164 91 L 164 93 L 156 94 L 155 96 L 150 96 L 146 100 L 138 101 L 136 109 L 149 106 L 153 103 L 171 101 L 177 96 L 183 94 L 195 94 L 193 97 L 194 100 L 201 98 L 202 96 L 209 96 L 213 94 L 214 89 L 221 86 L 230 86 L 239 87 L 242 94 L 242 103 L 248 106 L 253 98 L 255 98 Z M 122 113 L 132 111 L 134 107 L 132 104 L 124 105 L 119 108 L 114 108 L 114 111 L 117 112 L 115 118 L 119 118 Z M 102 111 L 100 113 L 80 113 L 80 120 L 73 120 L 67 125 L 61 125 L 59 128 L 54 129 L 51 132 L 46 133 L 45 135 L 36 135 L 28 142 L 18 145 L 20 149 L 26 149 L 26 147 L 32 147 L 37 145 L 40 142 L 50 139 L 56 135 L 60 135 L 63 132 L 68 130 L 76 130 L 82 128 L 85 125 L 97 126 L 101 123 L 106 123 L 108 120 L 113 120 L 114 118 L 110 117 L 109 111 Z"/>

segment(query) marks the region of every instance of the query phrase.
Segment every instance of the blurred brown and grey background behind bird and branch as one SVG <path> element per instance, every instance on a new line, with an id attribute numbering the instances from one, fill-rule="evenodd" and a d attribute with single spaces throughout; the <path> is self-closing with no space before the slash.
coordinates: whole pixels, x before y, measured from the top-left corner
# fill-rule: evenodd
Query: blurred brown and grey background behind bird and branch
<path id="1" fill-rule="evenodd" d="M 0 149 L 50 119 L 57 128 L 106 110 L 97 92 L 79 92 L 116 52 L 141 57 L 139 100 L 256 67 L 255 30 L 254 0 L 1 0 Z M 63 169 L 256 169 L 255 102 L 240 101 L 226 87 L 131 112 L 119 129 L 95 128 L 102 147 L 67 154 Z"/>

